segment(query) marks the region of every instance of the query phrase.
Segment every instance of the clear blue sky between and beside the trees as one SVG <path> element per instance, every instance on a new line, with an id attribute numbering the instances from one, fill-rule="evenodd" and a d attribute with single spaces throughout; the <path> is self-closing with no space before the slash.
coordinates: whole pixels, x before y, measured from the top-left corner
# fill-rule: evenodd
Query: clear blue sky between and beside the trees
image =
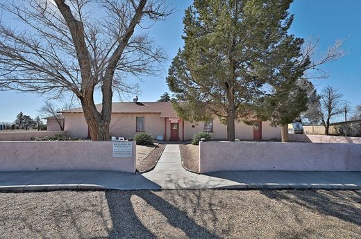
<path id="1" fill-rule="evenodd" d="M 178 48 L 183 46 L 182 18 L 184 10 L 192 4 L 191 0 L 169 0 L 176 12 L 165 21 L 158 22 L 149 30 L 158 44 L 169 55 L 169 61 L 163 66 L 160 76 L 144 78 L 139 98 L 141 101 L 155 101 L 165 91 L 169 91 L 165 82 L 171 58 Z M 317 80 L 317 89 L 333 85 L 344 94 L 344 99 L 351 105 L 361 105 L 361 1 L 355 0 L 295 0 L 290 9 L 295 15 L 291 33 L 297 37 L 320 37 L 319 51 L 326 51 L 335 39 L 345 39 L 344 49 L 348 54 L 324 67 L 330 78 Z M 170 93 L 170 92 L 169 92 Z M 0 91 L 0 122 L 12 122 L 20 111 L 30 116 L 37 116 L 37 109 L 46 99 L 36 94 L 24 94 L 15 91 Z M 114 98 L 113 100 L 118 100 Z M 131 99 L 129 99 L 131 100 Z M 100 103 L 96 97 L 96 103 Z"/>

